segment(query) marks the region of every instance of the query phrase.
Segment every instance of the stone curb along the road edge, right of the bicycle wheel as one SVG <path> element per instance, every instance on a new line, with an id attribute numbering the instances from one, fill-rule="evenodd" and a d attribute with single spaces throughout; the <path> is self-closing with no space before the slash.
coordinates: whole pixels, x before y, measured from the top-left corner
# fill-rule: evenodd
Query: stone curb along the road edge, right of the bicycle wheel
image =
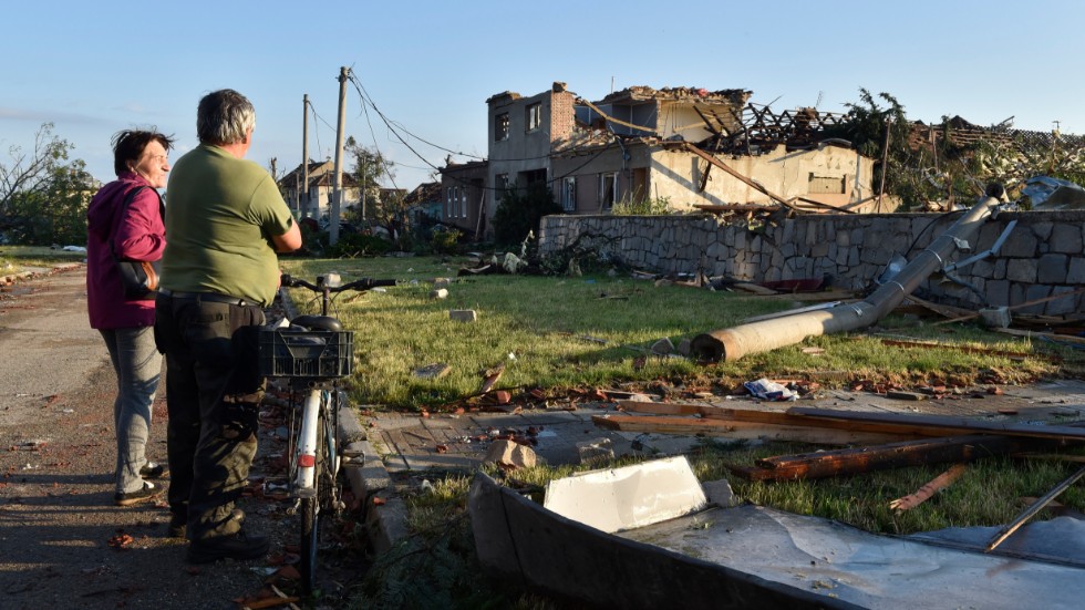
<path id="1" fill-rule="evenodd" d="M 290 296 L 279 288 L 279 301 L 286 310 L 287 319 L 298 314 Z M 347 476 L 351 492 L 363 507 L 363 521 L 366 537 L 373 549 L 386 552 L 400 540 L 407 537 L 406 504 L 395 495 L 392 477 L 376 448 L 369 442 L 365 428 L 348 401 L 340 402 L 339 444 L 343 447 L 342 472 Z"/>

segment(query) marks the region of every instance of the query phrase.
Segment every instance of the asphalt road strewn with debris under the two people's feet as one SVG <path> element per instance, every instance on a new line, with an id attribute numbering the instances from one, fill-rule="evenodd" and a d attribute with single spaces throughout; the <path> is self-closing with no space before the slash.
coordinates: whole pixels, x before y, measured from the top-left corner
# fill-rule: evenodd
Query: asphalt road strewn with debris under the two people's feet
<path id="1" fill-rule="evenodd" d="M 87 325 L 84 282 L 76 267 L 0 292 L 0 608 L 234 609 L 268 582 L 289 593 L 288 502 L 256 493 L 242 503 L 247 526 L 271 536 L 268 558 L 198 567 L 166 537 L 164 502 L 114 506 L 116 380 Z M 163 385 L 147 449 L 163 462 L 164 399 Z M 260 445 L 250 479 L 262 490 L 276 443 Z"/>

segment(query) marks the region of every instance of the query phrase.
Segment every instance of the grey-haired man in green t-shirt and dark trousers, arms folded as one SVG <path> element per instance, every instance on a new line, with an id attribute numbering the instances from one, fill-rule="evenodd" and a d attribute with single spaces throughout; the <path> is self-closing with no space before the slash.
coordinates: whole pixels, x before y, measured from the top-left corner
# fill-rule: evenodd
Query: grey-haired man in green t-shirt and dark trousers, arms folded
<path id="1" fill-rule="evenodd" d="M 244 158 L 255 125 L 240 93 L 204 96 L 200 145 L 177 159 L 166 189 L 155 339 L 166 354 L 169 534 L 187 533 L 195 564 L 254 559 L 269 546 L 242 529 L 234 503 L 256 456 L 257 347 L 276 251 L 301 247 L 301 234 L 271 176 Z"/>

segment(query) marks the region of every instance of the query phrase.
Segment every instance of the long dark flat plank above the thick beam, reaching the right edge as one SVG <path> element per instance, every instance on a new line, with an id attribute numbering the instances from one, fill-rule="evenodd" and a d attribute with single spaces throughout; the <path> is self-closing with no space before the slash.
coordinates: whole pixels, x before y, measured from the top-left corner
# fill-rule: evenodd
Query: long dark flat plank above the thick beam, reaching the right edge
<path id="1" fill-rule="evenodd" d="M 989 422 L 965 417 L 948 417 L 942 415 L 905 415 L 898 413 L 872 413 L 869 411 L 839 411 L 831 409 L 810 409 L 794 406 L 787 410 L 790 415 L 809 420 L 829 420 L 854 424 L 881 424 L 884 431 L 898 431 L 900 434 L 919 434 L 923 436 L 946 436 L 937 431 L 950 434 L 1001 434 L 1005 436 L 1025 436 L 1031 438 L 1052 438 L 1056 441 L 1085 442 L 1085 430 L 1072 426 L 1037 426 L 1015 424 L 1011 422 Z M 813 425 L 813 424 L 812 424 Z"/>

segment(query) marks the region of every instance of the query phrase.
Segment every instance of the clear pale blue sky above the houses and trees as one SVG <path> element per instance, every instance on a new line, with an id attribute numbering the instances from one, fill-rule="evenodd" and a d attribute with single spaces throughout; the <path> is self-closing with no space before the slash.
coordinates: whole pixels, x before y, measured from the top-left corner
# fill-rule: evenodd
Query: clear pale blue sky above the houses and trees
<path id="1" fill-rule="evenodd" d="M 846 112 L 865 89 L 913 121 L 1085 134 L 1083 20 L 1079 0 L 12 2 L 0 165 L 52 123 L 112 180 L 114 133 L 156 126 L 177 158 L 197 144 L 199 99 L 229 87 L 256 106 L 247 158 L 281 174 L 301 164 L 307 94 L 309 156 L 334 157 L 341 66 L 356 82 L 347 135 L 395 164 L 383 186 L 407 190 L 446 158 L 485 158 L 488 97 L 555 81 L 589 101 L 634 85 L 745 89 L 776 112 Z"/>

